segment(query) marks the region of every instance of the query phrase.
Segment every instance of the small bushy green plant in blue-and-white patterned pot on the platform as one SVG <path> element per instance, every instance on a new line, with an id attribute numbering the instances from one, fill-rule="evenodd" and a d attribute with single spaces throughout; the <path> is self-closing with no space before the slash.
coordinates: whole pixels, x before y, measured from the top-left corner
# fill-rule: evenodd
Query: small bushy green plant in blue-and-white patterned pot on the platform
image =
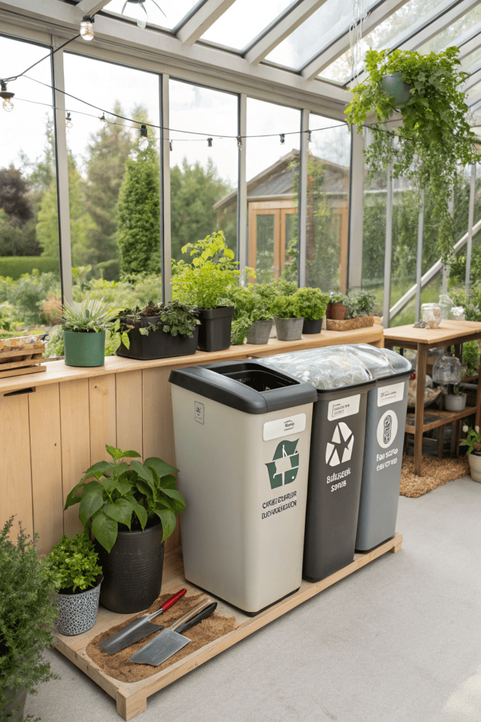
<path id="1" fill-rule="evenodd" d="M 57 631 L 74 636 L 87 632 L 97 621 L 102 567 L 89 535 L 72 539 L 63 534 L 45 559 L 57 590 Z"/>

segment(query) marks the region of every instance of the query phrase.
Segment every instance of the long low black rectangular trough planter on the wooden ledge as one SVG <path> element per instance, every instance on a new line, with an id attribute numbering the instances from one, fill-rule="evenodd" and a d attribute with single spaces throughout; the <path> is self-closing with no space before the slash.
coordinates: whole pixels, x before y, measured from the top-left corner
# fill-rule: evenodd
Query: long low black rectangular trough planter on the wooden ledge
<path id="1" fill-rule="evenodd" d="M 141 323 L 136 324 L 138 327 L 128 331 L 128 337 L 131 341 L 130 348 L 120 343 L 117 355 L 137 359 L 138 361 L 149 361 L 170 356 L 190 356 L 195 354 L 199 326 L 195 326 L 192 338 L 189 336 L 172 336 L 172 334 L 166 334 L 164 331 L 150 331 L 148 336 L 143 336 L 138 330 L 141 326 L 146 328 L 150 324 L 157 323 L 159 318 L 160 316 L 144 316 L 141 318 Z"/>

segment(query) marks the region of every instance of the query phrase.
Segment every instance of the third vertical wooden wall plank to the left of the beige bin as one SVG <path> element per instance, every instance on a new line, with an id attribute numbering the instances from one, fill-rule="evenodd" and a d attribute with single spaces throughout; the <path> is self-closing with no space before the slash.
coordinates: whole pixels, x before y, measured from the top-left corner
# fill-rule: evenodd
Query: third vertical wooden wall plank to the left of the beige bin
<path id="1" fill-rule="evenodd" d="M 115 374 L 89 378 L 90 461 L 112 461 L 105 444 L 117 446 Z"/>

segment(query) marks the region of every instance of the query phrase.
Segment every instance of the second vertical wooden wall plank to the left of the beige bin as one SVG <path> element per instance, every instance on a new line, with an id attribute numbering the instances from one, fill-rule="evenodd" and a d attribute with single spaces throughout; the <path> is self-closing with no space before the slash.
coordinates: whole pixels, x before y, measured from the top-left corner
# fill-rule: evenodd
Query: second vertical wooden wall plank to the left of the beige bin
<path id="1" fill-rule="evenodd" d="M 142 372 L 129 371 L 116 377 L 117 445 L 142 452 Z M 129 461 L 127 458 L 126 461 Z"/>

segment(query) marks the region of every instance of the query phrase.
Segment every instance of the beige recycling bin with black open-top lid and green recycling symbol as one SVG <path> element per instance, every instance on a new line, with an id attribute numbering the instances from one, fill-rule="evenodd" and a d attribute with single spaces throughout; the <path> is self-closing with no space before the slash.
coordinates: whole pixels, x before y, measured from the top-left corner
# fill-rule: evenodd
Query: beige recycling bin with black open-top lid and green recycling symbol
<path id="1" fill-rule="evenodd" d="M 169 380 L 185 578 L 257 614 L 301 586 L 316 390 L 255 361 Z"/>

